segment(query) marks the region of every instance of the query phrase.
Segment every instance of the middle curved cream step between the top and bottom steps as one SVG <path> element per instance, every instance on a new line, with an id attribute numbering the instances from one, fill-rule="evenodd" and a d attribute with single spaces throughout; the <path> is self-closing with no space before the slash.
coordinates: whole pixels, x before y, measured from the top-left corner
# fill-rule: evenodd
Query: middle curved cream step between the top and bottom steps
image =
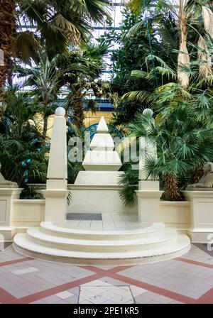
<path id="1" fill-rule="evenodd" d="M 64 238 L 60 236 L 53 236 L 44 234 L 39 227 L 31 227 L 27 231 L 28 239 L 40 245 L 48 246 L 50 248 L 60 248 L 67 251 L 88 251 L 88 252 L 131 252 L 148 250 L 149 248 L 160 248 L 167 243 L 175 243 L 178 233 L 175 229 L 165 229 L 163 234 L 152 236 L 148 238 L 115 241 L 99 241 L 94 234 L 93 240 Z"/>

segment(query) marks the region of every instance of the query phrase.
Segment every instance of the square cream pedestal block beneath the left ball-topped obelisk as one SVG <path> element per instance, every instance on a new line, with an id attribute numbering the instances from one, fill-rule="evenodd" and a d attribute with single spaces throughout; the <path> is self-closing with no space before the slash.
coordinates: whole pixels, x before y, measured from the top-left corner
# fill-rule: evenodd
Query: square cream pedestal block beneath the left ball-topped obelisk
<path id="1" fill-rule="evenodd" d="M 45 195 L 45 221 L 65 221 L 68 192 L 68 190 L 43 190 Z"/>

